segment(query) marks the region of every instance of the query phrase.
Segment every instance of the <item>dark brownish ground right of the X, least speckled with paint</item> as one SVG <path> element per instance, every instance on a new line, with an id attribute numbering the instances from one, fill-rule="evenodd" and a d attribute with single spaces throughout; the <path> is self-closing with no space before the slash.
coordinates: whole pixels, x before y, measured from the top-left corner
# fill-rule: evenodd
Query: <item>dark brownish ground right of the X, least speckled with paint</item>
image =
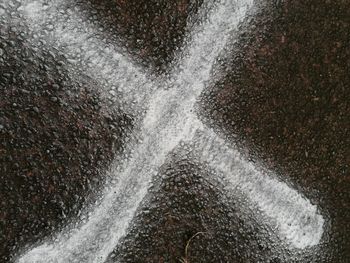
<path id="1" fill-rule="evenodd" d="M 319 202 L 325 262 L 350 258 L 350 2 L 286 1 L 262 13 L 203 96 L 213 127 Z M 238 136 L 234 136 L 238 135 Z"/>

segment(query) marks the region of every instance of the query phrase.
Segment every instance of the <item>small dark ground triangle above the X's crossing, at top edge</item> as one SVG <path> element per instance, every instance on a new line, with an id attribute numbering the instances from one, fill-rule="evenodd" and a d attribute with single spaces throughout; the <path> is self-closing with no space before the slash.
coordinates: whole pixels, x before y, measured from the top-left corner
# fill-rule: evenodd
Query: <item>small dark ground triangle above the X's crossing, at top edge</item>
<path id="1" fill-rule="evenodd" d="M 88 3 L 88 4 L 87 4 Z M 96 16 L 120 44 L 147 67 L 166 71 L 203 0 L 88 0 L 80 4 Z"/>

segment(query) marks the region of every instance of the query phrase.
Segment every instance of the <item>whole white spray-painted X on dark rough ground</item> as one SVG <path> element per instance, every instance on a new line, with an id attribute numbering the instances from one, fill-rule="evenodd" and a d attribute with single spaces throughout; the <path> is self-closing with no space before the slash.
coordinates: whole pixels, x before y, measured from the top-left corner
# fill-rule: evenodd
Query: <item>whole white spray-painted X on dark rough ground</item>
<path id="1" fill-rule="evenodd" d="M 101 203 L 79 226 L 27 251 L 17 262 L 104 262 L 125 235 L 152 176 L 180 142 L 191 145 L 201 162 L 224 175 L 227 189 L 239 189 L 289 248 L 319 243 L 324 219 L 317 207 L 272 172 L 245 160 L 195 114 L 199 95 L 217 79 L 214 62 L 253 12 L 254 0 L 220 0 L 213 5 L 207 19 L 190 33 L 189 45 L 174 61 L 171 73 L 163 77 L 145 74 L 101 39 L 79 10 L 67 6 L 56 0 L 32 0 L 19 8 L 32 27 L 33 41 L 42 41 L 44 32 L 45 45 L 63 50 L 74 68 L 97 80 L 104 87 L 102 96 L 115 96 L 126 111 L 147 111 L 139 140 L 129 145 L 130 157 L 112 167 L 114 180 L 104 189 Z"/>

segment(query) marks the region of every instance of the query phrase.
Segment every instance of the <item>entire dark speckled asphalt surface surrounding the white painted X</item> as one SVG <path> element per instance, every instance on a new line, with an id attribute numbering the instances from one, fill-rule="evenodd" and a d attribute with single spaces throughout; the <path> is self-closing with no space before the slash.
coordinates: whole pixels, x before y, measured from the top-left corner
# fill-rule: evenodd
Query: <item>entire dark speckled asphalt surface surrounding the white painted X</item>
<path id="1" fill-rule="evenodd" d="M 201 3 L 77 1 L 158 72 Z M 25 26 L 0 26 L 0 262 L 11 262 L 93 199 L 133 116 L 111 111 L 88 76 L 72 78 L 59 52 L 35 50 Z M 121 262 L 349 262 L 349 41 L 350 1 L 269 1 L 199 103 L 209 126 L 322 208 L 328 234 L 319 251 L 289 255 L 271 243 L 239 216 L 244 202 L 227 197 L 223 182 L 174 153 L 109 261 L 117 254 Z"/>

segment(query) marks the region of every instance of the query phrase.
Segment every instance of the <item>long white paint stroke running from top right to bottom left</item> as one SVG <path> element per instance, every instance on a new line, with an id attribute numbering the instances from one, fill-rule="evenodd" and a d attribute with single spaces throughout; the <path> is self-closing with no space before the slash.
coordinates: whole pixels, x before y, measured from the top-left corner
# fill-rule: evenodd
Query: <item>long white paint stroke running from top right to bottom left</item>
<path id="1" fill-rule="evenodd" d="M 124 171 L 116 178 L 117 183 L 105 190 L 102 203 L 91 211 L 87 223 L 81 228 L 58 235 L 54 243 L 45 243 L 32 249 L 17 262 L 98 263 L 106 260 L 125 234 L 139 203 L 147 193 L 152 175 L 164 163 L 166 155 L 181 140 L 190 139 L 196 129 L 201 127 L 192 115 L 192 109 L 204 88 L 203 82 L 209 78 L 212 63 L 220 52 L 212 52 L 212 49 L 202 45 L 221 49 L 226 44 L 223 43 L 228 39 L 226 35 L 244 19 L 249 7 L 247 4 L 251 1 L 238 3 L 246 4 L 243 8 L 240 6 L 235 9 L 234 13 L 232 8 L 236 5 L 233 1 L 225 1 L 214 10 L 209 22 L 202 26 L 200 36 L 193 38 L 189 56 L 181 68 L 182 73 L 175 78 L 173 87 L 167 91 L 159 90 L 153 96 L 142 129 L 143 142 L 136 148 L 133 157 L 126 161 Z M 232 20 L 232 17 L 236 18 Z M 204 70 L 198 68 L 198 64 Z M 193 69 L 196 68 L 200 72 L 194 74 Z"/>

